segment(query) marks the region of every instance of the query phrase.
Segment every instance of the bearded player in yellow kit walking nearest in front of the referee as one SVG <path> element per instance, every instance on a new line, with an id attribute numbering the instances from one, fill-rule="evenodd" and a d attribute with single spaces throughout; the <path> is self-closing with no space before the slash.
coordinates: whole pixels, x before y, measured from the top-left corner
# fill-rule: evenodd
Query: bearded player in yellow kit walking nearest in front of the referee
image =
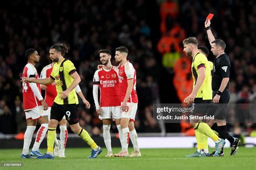
<path id="1" fill-rule="evenodd" d="M 195 103 L 196 110 L 196 105 L 200 103 L 210 103 L 212 100 L 211 70 L 206 56 L 198 51 L 198 40 L 195 37 L 185 39 L 183 46 L 186 55 L 193 58 L 191 69 L 194 81 L 192 93 L 185 98 L 184 103 Z M 218 155 L 225 144 L 225 140 L 220 139 L 217 134 L 212 131 L 210 126 L 201 122 L 201 120 L 196 120 L 196 122 L 192 122 L 191 120 L 191 125 L 193 125 L 195 129 L 198 150 L 191 155 L 186 155 L 186 157 L 205 157 L 205 154 L 202 153 L 205 135 L 214 140 L 216 144 L 215 154 Z"/>

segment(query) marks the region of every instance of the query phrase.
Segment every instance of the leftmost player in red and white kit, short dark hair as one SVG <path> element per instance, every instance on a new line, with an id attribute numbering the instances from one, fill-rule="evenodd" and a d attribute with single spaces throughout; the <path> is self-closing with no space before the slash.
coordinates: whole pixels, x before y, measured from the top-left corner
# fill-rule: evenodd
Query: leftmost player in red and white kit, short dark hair
<path id="1" fill-rule="evenodd" d="M 28 49 L 25 53 L 25 57 L 28 59 L 28 63 L 23 69 L 22 76 L 38 79 L 39 76 L 35 65 L 39 62 L 40 56 L 36 49 Z M 47 110 L 48 105 L 45 103 L 41 95 L 39 84 L 23 82 L 22 93 L 27 126 L 24 134 L 24 145 L 21 158 L 32 158 L 31 155 L 34 157 L 41 157 L 42 154 L 39 152 L 39 146 L 48 130 L 48 118 L 47 115 L 43 113 L 43 110 Z M 33 132 L 36 129 L 37 119 L 41 124 L 41 127 L 37 131 L 36 141 L 30 151 L 30 155 L 29 146 L 31 144 Z"/>

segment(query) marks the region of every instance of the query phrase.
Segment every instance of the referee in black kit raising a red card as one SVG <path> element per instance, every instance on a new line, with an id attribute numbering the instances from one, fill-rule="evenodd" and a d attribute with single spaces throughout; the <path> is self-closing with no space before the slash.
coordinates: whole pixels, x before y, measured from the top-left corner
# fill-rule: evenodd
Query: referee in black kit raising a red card
<path id="1" fill-rule="evenodd" d="M 228 90 L 228 81 L 230 80 L 230 58 L 224 52 L 226 44 L 221 39 L 215 39 L 211 31 L 211 21 L 206 19 L 205 28 L 207 30 L 208 40 L 211 45 L 211 51 L 216 56 L 213 62 L 212 90 L 213 103 L 219 103 L 215 112 L 215 119 L 219 129 L 219 137 L 231 141 L 231 153 L 234 155 L 238 151 L 240 140 L 227 134 L 226 115 L 227 103 L 230 101 L 230 91 Z"/>

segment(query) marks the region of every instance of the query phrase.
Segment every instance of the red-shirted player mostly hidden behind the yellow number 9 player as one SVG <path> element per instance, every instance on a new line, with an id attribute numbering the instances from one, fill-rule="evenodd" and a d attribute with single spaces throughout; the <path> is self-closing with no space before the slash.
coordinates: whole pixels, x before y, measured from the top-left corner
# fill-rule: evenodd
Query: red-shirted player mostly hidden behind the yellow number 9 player
<path id="1" fill-rule="evenodd" d="M 45 79 L 50 77 L 52 68 L 55 62 L 52 62 L 50 65 L 45 66 L 42 69 L 40 79 Z M 41 89 L 45 90 L 45 96 L 44 100 L 48 104 L 49 108 L 47 110 L 44 110 L 45 114 L 48 115 L 49 121 L 50 121 L 50 115 L 51 115 L 51 106 L 53 104 L 53 101 L 55 100 L 55 97 L 57 96 L 57 90 L 55 86 L 55 81 L 51 84 L 41 84 Z M 90 108 L 90 103 L 85 99 L 79 85 L 76 87 L 76 93 L 82 98 L 83 103 L 86 105 L 86 108 Z M 66 147 L 66 140 L 68 139 L 68 130 L 66 129 L 66 118 L 63 116 L 62 121 L 59 122 L 59 139 L 55 138 L 55 147 L 54 147 L 54 155 L 60 158 L 65 158 L 65 147 Z"/>

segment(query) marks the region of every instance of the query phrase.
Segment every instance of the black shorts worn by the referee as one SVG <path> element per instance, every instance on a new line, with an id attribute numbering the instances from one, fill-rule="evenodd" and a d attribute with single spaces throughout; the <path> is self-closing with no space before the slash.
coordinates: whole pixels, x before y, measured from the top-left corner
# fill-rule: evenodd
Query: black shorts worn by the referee
<path id="1" fill-rule="evenodd" d="M 215 97 L 218 90 L 214 90 L 212 97 Z M 220 95 L 219 103 L 212 103 L 214 108 L 214 118 L 218 120 L 225 120 L 227 117 L 227 103 L 230 101 L 230 91 L 225 89 Z"/>

